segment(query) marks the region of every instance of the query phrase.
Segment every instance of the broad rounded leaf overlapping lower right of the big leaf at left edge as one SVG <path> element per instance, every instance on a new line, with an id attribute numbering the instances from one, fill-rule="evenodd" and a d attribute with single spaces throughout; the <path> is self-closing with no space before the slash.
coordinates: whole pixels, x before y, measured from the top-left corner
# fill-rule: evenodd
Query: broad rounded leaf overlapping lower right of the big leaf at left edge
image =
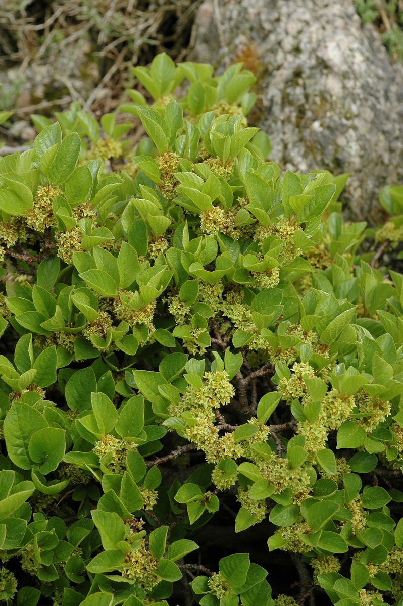
<path id="1" fill-rule="evenodd" d="M 45 476 L 58 468 L 64 457 L 65 430 L 58 427 L 44 427 L 33 433 L 28 445 L 32 461 L 42 463 L 39 471 Z"/>

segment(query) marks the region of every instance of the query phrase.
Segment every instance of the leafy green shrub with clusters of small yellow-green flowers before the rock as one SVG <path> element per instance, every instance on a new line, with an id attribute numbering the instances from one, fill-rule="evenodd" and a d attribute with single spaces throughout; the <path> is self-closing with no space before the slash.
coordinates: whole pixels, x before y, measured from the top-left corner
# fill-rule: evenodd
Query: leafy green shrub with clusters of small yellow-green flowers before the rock
<path id="1" fill-rule="evenodd" d="M 343 222 L 348 175 L 267 161 L 241 64 L 136 76 L 133 162 L 78 105 L 0 159 L 1 598 L 401 603 L 403 276 Z M 195 557 L 222 507 L 296 601 L 254 553 Z"/>

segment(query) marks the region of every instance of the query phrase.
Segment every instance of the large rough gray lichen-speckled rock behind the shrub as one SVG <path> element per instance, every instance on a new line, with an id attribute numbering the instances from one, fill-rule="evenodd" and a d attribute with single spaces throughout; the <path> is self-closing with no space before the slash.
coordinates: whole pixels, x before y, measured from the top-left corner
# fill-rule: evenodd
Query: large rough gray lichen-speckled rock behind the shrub
<path id="1" fill-rule="evenodd" d="M 403 65 L 353 1 L 205 0 L 193 39 L 191 58 L 221 70 L 257 53 L 271 158 L 351 173 L 346 216 L 375 222 L 379 189 L 403 181 Z"/>

